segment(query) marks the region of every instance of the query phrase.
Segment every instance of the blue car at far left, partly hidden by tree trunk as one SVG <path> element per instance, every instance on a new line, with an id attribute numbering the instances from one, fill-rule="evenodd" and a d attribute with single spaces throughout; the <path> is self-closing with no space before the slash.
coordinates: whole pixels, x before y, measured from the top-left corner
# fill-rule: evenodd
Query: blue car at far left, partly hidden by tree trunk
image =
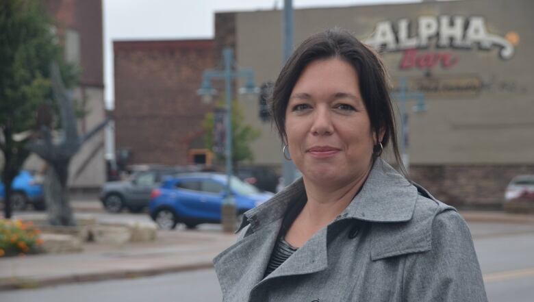
<path id="1" fill-rule="evenodd" d="M 42 193 L 42 176 L 31 171 L 22 170 L 11 184 L 11 209 L 14 211 L 25 210 L 27 205 L 33 205 L 34 209 L 42 211 L 46 209 L 44 195 Z M 5 199 L 5 186 L 0 181 L 0 199 Z"/>

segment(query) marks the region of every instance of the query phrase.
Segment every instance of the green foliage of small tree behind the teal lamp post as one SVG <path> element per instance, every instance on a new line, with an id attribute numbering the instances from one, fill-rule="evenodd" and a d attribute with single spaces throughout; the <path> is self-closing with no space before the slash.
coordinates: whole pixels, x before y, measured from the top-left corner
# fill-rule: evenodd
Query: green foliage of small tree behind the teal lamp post
<path id="1" fill-rule="evenodd" d="M 224 108 L 225 102 L 218 101 L 216 103 L 218 108 Z M 262 133 L 260 129 L 253 128 L 251 125 L 243 123 L 243 110 L 238 101 L 232 102 L 232 162 L 236 164 L 243 160 L 253 160 L 254 156 L 250 149 L 250 143 L 256 140 Z M 214 113 L 206 114 L 203 121 L 203 128 L 205 130 L 204 142 L 206 147 L 213 149 L 213 129 L 214 129 Z M 218 160 L 225 160 L 225 155 L 217 155 Z"/>

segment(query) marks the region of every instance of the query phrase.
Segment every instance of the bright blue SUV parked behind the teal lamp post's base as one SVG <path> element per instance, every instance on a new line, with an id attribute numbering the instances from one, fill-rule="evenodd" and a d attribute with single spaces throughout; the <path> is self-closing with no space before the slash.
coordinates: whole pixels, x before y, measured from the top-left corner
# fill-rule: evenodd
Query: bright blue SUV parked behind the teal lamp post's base
<path id="1" fill-rule="evenodd" d="M 201 223 L 220 223 L 223 199 L 227 197 L 227 177 L 219 173 L 188 173 L 164 181 L 153 191 L 149 212 L 161 229 L 174 229 L 177 223 L 194 228 Z M 241 215 L 264 203 L 270 192 L 260 192 L 238 177 L 231 178 L 238 221 Z"/>

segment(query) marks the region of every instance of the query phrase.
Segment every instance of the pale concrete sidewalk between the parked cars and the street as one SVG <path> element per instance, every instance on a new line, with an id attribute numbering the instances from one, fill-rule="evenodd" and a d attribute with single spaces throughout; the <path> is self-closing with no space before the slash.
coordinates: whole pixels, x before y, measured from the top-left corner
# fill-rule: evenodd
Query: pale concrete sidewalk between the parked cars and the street
<path id="1" fill-rule="evenodd" d="M 75 201 L 76 212 L 101 212 L 97 201 Z M 534 215 L 461 211 L 468 222 L 534 224 Z M 0 258 L 0 290 L 77 281 L 142 277 L 212 267 L 212 259 L 236 242 L 217 230 L 158 231 L 154 242 L 85 243 L 81 253 Z"/>

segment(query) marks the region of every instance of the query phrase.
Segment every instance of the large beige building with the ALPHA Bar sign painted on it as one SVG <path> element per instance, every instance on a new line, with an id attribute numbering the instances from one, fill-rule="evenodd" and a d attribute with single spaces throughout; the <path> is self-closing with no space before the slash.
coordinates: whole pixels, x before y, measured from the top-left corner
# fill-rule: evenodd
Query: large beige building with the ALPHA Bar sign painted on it
<path id="1" fill-rule="evenodd" d="M 394 84 L 422 92 L 407 101 L 410 177 L 445 202 L 500 205 L 511 177 L 534 174 L 534 2 L 463 0 L 294 11 L 295 45 L 329 27 L 380 51 Z M 281 11 L 216 14 L 216 53 L 236 50 L 256 81 L 281 68 Z M 399 98 L 397 98 L 397 101 Z M 400 105 L 400 103 L 398 103 Z M 258 103 L 246 122 L 262 129 L 255 164 L 281 164 L 281 143 Z"/>

